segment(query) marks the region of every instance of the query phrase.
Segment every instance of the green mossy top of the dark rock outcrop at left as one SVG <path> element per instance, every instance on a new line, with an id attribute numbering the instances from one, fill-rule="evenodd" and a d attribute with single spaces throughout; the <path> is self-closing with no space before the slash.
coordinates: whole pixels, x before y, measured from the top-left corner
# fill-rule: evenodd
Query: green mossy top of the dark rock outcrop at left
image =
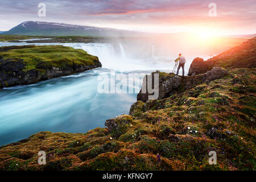
<path id="1" fill-rule="evenodd" d="M 16 47 L 16 48 L 15 48 Z M 4 49 L 5 47 L 2 47 Z M 24 71 L 40 67 L 65 68 L 66 65 L 94 65 L 98 57 L 89 55 L 82 49 L 65 46 L 28 46 L 27 48 L 14 48 L 0 52 L 3 60 L 22 59 L 26 64 Z"/>

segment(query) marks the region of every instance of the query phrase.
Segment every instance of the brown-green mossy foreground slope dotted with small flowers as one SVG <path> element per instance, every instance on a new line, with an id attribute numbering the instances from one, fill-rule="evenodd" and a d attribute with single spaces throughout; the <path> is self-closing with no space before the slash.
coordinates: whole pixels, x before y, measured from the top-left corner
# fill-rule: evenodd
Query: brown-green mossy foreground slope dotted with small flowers
<path id="1" fill-rule="evenodd" d="M 163 100 L 138 101 L 131 115 L 115 119 L 121 133 L 40 132 L 2 146 L 0 169 L 255 170 L 255 73 L 232 69 Z M 38 164 L 39 151 L 46 165 Z M 217 152 L 216 165 L 209 151 Z"/>

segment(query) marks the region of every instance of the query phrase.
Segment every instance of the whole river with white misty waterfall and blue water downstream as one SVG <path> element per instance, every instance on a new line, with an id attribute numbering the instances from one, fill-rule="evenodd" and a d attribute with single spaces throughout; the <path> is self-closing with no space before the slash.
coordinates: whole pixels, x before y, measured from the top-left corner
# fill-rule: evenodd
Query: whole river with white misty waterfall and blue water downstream
<path id="1" fill-rule="evenodd" d="M 36 84 L 0 89 L 0 146 L 29 137 L 39 131 L 85 133 L 96 127 L 104 127 L 106 119 L 128 114 L 131 104 L 137 100 L 139 88 L 128 85 L 134 93 L 98 93 L 98 75 L 115 73 L 143 73 L 152 71 L 171 72 L 176 55 L 164 57 L 155 53 L 153 44 L 143 56 L 134 56 L 123 44 L 104 43 L 7 43 L 14 45 L 63 45 L 98 56 L 102 68 L 53 78 Z M 146 55 L 146 56 L 145 56 Z M 195 56 L 185 56 L 185 73 Z M 207 58 L 207 56 L 203 56 Z M 180 74 L 181 74 L 180 70 Z M 136 85 L 136 84 L 135 84 Z"/>

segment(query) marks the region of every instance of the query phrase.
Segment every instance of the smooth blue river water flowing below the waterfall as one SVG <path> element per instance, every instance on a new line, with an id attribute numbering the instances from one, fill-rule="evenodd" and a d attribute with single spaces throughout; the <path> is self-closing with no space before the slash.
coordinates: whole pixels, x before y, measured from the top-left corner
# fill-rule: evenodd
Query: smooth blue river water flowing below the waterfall
<path id="1" fill-rule="evenodd" d="M 98 93 L 99 73 L 109 69 L 0 90 L 0 145 L 39 131 L 85 133 L 128 114 L 137 94 Z"/>

